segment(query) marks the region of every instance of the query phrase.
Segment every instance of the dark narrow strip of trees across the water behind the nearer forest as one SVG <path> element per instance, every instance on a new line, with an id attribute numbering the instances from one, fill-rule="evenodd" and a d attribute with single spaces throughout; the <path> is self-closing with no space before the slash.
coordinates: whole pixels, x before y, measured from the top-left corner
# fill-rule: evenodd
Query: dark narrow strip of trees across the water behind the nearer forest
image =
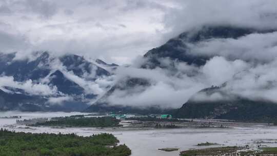
<path id="1" fill-rule="evenodd" d="M 34 126 L 65 126 L 65 127 L 120 127 L 120 120 L 111 117 L 66 116 L 53 118 L 45 123 L 36 123 Z"/>

